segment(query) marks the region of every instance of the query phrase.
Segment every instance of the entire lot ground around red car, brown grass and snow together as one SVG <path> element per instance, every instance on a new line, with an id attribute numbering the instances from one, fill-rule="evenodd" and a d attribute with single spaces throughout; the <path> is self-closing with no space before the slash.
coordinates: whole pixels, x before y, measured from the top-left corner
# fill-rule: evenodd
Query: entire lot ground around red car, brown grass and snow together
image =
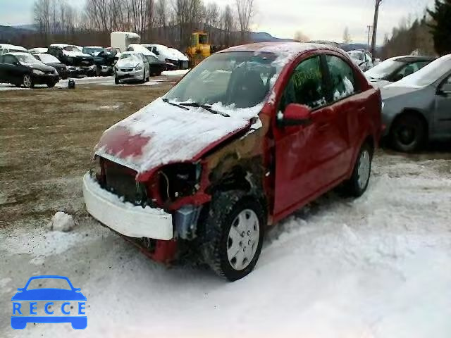
<path id="1" fill-rule="evenodd" d="M 378 151 L 364 196 L 331 192 L 283 220 L 231 284 L 149 261 L 92 220 L 81 180 L 94 144 L 171 85 L 0 92 L 0 337 L 450 337 L 449 144 Z M 56 211 L 78 226 L 44 230 Z M 87 330 L 12 330 L 11 296 L 32 275 L 70 277 Z"/>

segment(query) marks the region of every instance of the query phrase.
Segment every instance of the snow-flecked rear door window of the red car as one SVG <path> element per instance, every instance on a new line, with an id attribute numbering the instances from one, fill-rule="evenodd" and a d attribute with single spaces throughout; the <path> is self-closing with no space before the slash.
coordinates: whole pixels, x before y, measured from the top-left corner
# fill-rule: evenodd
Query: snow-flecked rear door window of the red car
<path id="1" fill-rule="evenodd" d="M 332 101 L 340 101 L 357 92 L 354 70 L 342 58 L 333 55 L 326 56 L 330 75 Z"/>

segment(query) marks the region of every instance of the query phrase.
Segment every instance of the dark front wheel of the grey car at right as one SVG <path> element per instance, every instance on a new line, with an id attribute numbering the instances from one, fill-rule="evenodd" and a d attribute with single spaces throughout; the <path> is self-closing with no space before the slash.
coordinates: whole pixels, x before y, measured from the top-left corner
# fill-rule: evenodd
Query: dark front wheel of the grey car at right
<path id="1" fill-rule="evenodd" d="M 397 151 L 419 150 L 426 141 L 426 125 L 416 115 L 404 114 L 396 118 L 390 129 L 390 143 Z"/>

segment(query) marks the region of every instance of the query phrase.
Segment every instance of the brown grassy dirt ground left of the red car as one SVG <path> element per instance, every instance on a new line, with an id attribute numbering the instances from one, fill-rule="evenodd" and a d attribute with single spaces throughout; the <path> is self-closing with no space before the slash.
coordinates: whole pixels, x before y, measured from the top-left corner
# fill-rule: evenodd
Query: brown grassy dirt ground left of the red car
<path id="1" fill-rule="evenodd" d="M 101 133 L 172 85 L 0 92 L 0 227 L 83 212 L 81 175 Z"/>

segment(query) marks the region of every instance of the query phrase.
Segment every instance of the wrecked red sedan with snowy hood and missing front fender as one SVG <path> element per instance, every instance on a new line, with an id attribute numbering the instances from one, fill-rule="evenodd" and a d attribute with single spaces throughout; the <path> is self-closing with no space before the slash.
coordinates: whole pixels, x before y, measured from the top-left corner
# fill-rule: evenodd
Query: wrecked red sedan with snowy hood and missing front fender
<path id="1" fill-rule="evenodd" d="M 267 227 L 339 184 L 365 192 L 380 134 L 381 94 L 342 50 L 237 46 L 104 132 L 85 203 L 155 260 L 196 249 L 238 280 Z"/>

